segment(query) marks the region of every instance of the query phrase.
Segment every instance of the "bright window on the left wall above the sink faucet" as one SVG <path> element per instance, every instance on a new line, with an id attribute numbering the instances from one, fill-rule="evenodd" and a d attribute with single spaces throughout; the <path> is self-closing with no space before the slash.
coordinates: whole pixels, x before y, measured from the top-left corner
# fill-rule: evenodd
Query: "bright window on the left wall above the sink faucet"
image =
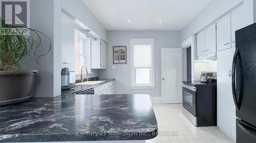
<path id="1" fill-rule="evenodd" d="M 78 30 L 75 30 L 75 71 L 76 74 L 81 74 L 82 66 L 86 66 L 91 73 L 91 39 L 86 38 L 86 35 Z M 86 68 L 83 68 L 85 73 Z"/>

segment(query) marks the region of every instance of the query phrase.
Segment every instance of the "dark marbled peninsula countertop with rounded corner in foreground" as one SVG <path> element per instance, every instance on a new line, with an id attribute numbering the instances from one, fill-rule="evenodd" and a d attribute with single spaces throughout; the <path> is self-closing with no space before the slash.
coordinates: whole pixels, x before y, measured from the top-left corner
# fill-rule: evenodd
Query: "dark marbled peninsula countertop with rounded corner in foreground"
<path id="1" fill-rule="evenodd" d="M 0 142 L 146 140 L 157 133 L 149 95 L 32 98 L 0 106 L 0 123 Z"/>

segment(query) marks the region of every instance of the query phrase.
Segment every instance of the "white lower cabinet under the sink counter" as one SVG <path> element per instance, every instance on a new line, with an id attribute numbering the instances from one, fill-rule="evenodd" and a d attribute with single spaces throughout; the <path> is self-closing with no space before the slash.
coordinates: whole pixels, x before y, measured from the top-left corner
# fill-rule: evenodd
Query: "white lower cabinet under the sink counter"
<path id="1" fill-rule="evenodd" d="M 95 87 L 94 94 L 115 94 L 115 82 L 110 81 Z"/>

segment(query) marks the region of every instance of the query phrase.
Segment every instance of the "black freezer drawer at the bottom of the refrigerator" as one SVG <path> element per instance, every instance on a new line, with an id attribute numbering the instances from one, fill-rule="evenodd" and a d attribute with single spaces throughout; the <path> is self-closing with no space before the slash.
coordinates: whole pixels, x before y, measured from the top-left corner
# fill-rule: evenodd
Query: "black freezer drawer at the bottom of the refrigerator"
<path id="1" fill-rule="evenodd" d="M 237 143 L 256 142 L 256 129 L 237 119 Z"/>

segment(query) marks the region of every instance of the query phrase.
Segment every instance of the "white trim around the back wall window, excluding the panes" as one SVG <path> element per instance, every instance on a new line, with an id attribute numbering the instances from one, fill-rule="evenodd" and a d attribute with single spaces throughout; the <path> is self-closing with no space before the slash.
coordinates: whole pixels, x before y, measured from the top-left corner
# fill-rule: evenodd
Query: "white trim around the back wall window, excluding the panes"
<path id="1" fill-rule="evenodd" d="M 155 39 L 130 39 L 131 40 L 131 89 L 155 89 Z M 133 59 L 133 45 L 134 44 L 151 44 L 152 50 L 152 77 L 151 85 L 135 85 L 134 59 Z"/>

